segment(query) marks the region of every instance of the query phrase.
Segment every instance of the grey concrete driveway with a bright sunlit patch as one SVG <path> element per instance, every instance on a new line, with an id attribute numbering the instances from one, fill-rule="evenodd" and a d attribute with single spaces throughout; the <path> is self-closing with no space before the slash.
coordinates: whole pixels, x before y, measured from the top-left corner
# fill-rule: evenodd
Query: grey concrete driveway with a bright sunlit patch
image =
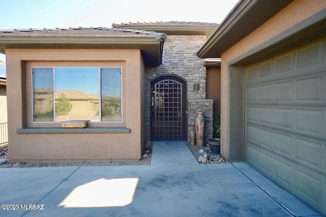
<path id="1" fill-rule="evenodd" d="M 246 163 L 2 168 L 0 187 L 19 206 L 0 216 L 319 216 Z"/>

